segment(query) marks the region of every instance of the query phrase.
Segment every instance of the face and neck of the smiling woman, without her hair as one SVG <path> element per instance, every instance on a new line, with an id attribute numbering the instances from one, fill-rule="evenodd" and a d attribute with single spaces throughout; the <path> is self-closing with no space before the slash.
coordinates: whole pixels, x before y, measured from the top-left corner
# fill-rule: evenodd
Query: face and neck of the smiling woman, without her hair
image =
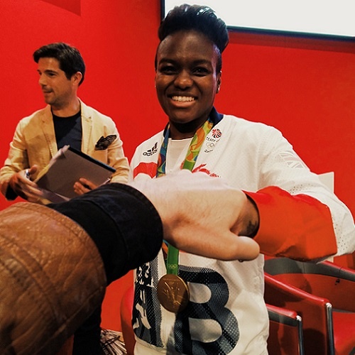
<path id="1" fill-rule="evenodd" d="M 207 120 L 221 84 L 219 55 L 217 46 L 195 31 L 178 31 L 160 43 L 155 85 L 171 138 L 191 138 Z"/>

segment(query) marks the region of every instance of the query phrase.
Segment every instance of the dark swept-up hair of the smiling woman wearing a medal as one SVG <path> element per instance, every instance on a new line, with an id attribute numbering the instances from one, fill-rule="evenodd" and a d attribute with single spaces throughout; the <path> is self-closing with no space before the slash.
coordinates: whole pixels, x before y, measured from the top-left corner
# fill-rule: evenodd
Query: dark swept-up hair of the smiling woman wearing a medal
<path id="1" fill-rule="evenodd" d="M 219 50 L 217 72 L 219 72 L 222 69 L 222 52 L 229 42 L 226 23 L 208 6 L 183 4 L 170 10 L 160 23 L 158 29 L 160 42 L 168 35 L 182 30 L 200 32 L 217 46 Z"/>

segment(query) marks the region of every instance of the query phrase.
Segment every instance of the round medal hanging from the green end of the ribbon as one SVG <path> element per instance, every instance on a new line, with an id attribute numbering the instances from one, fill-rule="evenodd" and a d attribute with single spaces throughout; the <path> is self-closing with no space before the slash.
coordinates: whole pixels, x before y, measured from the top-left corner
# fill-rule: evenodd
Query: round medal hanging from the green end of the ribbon
<path id="1" fill-rule="evenodd" d="M 158 300 L 165 310 L 178 313 L 190 300 L 189 288 L 178 275 L 168 273 L 158 282 Z"/>

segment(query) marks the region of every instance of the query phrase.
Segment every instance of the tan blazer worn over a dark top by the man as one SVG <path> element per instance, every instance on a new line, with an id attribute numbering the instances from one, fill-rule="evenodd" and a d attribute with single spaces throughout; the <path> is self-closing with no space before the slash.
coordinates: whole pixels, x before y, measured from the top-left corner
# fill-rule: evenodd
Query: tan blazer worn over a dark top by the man
<path id="1" fill-rule="evenodd" d="M 124 156 L 122 141 L 114 121 L 109 116 L 88 107 L 83 102 L 82 111 L 82 152 L 116 169 L 111 182 L 127 182 L 129 163 Z M 116 135 L 116 139 L 107 148 L 95 148 L 100 138 Z M 8 182 L 14 173 L 38 165 L 38 173 L 48 165 L 57 153 L 57 141 L 53 117 L 48 105 L 18 122 L 9 155 L 0 170 L 1 193 L 6 194 Z M 33 177 L 35 178 L 35 176 Z"/>

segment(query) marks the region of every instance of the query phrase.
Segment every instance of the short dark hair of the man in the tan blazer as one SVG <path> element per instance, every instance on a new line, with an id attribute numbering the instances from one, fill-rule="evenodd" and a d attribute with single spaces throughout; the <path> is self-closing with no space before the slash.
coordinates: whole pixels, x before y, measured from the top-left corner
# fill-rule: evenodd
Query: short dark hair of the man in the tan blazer
<path id="1" fill-rule="evenodd" d="M 59 62 L 60 69 L 65 72 L 67 79 L 70 79 L 76 72 L 82 73 L 81 84 L 84 81 L 85 63 L 77 48 L 67 43 L 50 43 L 35 50 L 33 59 L 36 63 L 40 58 L 55 58 Z"/>

